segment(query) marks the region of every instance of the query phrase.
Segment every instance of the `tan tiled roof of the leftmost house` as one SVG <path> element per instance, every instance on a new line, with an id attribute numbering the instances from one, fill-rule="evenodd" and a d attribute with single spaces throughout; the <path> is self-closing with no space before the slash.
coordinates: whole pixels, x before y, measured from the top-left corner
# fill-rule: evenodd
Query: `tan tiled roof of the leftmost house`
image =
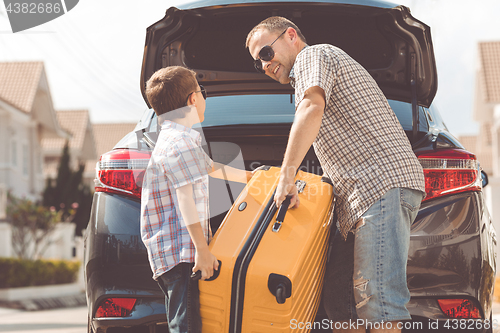
<path id="1" fill-rule="evenodd" d="M 0 62 L 0 98 L 30 113 L 43 72 L 43 62 Z"/>

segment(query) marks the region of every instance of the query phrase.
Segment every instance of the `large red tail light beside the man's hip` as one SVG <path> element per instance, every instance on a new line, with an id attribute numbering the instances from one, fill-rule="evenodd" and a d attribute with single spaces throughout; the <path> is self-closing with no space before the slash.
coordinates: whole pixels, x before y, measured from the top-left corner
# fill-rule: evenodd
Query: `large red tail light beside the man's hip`
<path id="1" fill-rule="evenodd" d="M 476 156 L 462 149 L 433 150 L 417 153 L 424 168 L 425 200 L 449 193 L 481 189 Z"/>

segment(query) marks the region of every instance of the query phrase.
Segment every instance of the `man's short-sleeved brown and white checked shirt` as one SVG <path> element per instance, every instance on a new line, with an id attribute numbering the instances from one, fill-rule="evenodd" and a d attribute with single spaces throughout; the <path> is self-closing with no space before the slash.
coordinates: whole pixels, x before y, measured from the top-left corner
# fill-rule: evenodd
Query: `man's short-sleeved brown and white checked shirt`
<path id="1" fill-rule="evenodd" d="M 360 64 L 332 45 L 308 46 L 297 56 L 290 77 L 296 107 L 310 87 L 325 92 L 325 113 L 313 146 L 335 186 L 344 238 L 389 189 L 425 193 L 422 167 L 401 124 Z"/>

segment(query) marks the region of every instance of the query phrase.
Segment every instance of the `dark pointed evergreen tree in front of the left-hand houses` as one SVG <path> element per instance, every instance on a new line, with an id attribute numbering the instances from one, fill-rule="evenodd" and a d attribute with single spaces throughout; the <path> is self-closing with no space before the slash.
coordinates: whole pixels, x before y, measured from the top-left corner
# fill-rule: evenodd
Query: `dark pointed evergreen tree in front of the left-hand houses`
<path id="1" fill-rule="evenodd" d="M 73 171 L 70 167 L 70 154 L 68 141 L 66 141 L 59 166 L 55 184 L 52 179 L 47 179 L 43 193 L 43 205 L 54 207 L 60 212 L 62 220 L 76 224 L 76 233 L 81 235 L 82 229 L 87 226 L 92 207 L 92 193 L 90 188 L 83 184 L 84 164 Z"/>

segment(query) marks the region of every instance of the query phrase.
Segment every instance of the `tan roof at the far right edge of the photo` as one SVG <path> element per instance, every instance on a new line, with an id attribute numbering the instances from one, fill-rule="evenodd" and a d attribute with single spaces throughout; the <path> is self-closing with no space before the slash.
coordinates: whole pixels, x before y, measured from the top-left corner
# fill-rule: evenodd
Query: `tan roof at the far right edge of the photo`
<path id="1" fill-rule="evenodd" d="M 479 43 L 481 80 L 488 103 L 500 102 L 500 41 Z"/>

